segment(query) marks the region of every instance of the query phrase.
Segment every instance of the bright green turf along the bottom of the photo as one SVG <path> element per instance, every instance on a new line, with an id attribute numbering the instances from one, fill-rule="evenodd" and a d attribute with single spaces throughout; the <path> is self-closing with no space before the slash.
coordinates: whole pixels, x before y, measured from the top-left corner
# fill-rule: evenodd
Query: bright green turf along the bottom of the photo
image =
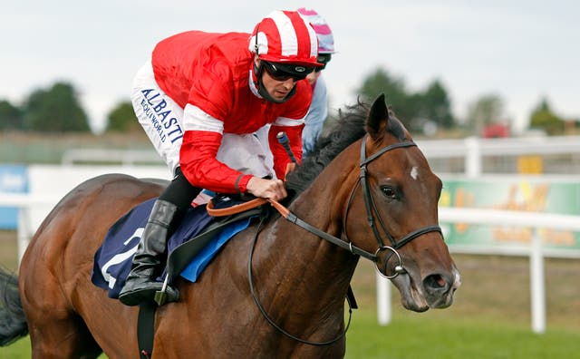
<path id="1" fill-rule="evenodd" d="M 555 329 L 535 335 L 526 325 L 488 322 L 483 317 L 456 320 L 401 313 L 390 325 L 381 326 L 374 311 L 356 310 L 353 315 L 346 335 L 350 359 L 580 358 L 580 333 L 574 331 Z M 28 338 L 0 348 L 2 359 L 30 355 Z"/>

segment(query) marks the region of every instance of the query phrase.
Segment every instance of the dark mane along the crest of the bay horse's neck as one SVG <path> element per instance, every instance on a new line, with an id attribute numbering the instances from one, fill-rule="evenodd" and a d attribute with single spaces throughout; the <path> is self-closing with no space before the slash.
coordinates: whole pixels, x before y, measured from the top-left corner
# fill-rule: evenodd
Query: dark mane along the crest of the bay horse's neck
<path id="1" fill-rule="evenodd" d="M 289 191 L 289 201 L 295 199 L 299 193 L 308 188 L 310 183 L 340 152 L 364 136 L 369 110 L 369 104 L 357 101 L 353 105 L 346 106 L 345 111 L 339 111 L 337 116 L 327 119 L 332 123 L 330 130 L 325 131 L 318 138 L 312 153 L 305 157 L 301 165 L 286 179 L 285 187 Z M 390 118 L 396 119 L 391 108 L 388 111 Z M 400 141 L 405 138 L 404 127 L 398 120 L 389 121 L 386 131 L 391 132 Z"/>

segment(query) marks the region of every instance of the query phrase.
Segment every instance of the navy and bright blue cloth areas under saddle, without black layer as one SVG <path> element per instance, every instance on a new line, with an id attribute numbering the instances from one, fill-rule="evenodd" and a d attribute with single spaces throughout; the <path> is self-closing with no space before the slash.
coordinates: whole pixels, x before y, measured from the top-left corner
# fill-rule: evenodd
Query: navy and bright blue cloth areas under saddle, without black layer
<path id="1" fill-rule="evenodd" d="M 121 288 L 125 285 L 125 279 L 131 271 L 132 258 L 137 251 L 141 235 L 151 209 L 156 199 L 147 200 L 111 226 L 107 235 L 94 255 L 92 267 L 92 283 L 109 291 L 109 297 L 118 298 Z M 191 282 L 196 282 L 199 275 L 229 238 L 234 237 L 239 231 L 247 228 L 251 218 L 239 220 L 227 225 L 218 235 L 212 238 L 206 247 L 191 259 L 180 277 Z M 206 206 L 190 208 L 182 219 L 179 228 L 173 233 L 168 241 L 168 253 L 191 238 L 195 238 L 204 228 L 213 221 L 208 215 Z M 157 278 L 162 281 L 162 277 Z"/>

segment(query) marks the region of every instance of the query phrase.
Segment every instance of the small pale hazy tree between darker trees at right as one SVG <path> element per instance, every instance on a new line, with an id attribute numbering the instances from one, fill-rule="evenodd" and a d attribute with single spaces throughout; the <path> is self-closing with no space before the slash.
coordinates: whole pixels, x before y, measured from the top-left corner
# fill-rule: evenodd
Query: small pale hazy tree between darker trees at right
<path id="1" fill-rule="evenodd" d="M 483 95 L 469 104 L 466 125 L 470 130 L 481 133 L 484 127 L 504 121 L 504 102 L 495 93 Z"/>

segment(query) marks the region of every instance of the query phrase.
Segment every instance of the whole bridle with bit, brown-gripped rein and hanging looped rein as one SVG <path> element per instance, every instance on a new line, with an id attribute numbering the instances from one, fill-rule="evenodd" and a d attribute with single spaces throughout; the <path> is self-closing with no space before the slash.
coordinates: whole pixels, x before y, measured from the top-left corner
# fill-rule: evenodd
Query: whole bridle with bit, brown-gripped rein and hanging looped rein
<path id="1" fill-rule="evenodd" d="M 305 230 L 313 233 L 314 235 L 316 235 L 320 238 L 324 238 L 325 240 L 333 243 L 333 245 L 336 245 L 338 247 L 342 247 L 343 249 L 350 251 L 351 253 L 353 253 L 353 255 L 361 256 L 361 257 L 364 257 L 364 258 L 371 260 L 372 262 L 374 262 L 376 264 L 377 271 L 379 272 L 379 274 L 381 274 L 382 277 L 392 279 L 392 278 L 397 277 L 398 275 L 406 272 L 405 268 L 403 267 L 401 255 L 399 254 L 397 249 L 400 249 L 401 247 L 403 247 L 407 243 L 411 242 L 411 240 L 413 240 L 415 238 L 419 238 L 420 236 L 422 236 L 426 233 L 430 233 L 430 232 L 440 232 L 441 233 L 441 228 L 437 225 L 426 226 L 426 227 L 419 228 L 417 230 L 412 231 L 411 233 L 409 233 L 408 235 L 406 235 L 405 237 L 403 237 L 399 240 L 396 240 L 395 238 L 393 238 L 391 236 L 391 234 L 387 230 L 384 222 L 382 221 L 381 216 L 379 215 L 379 212 L 376 208 L 376 205 L 374 204 L 374 199 L 372 198 L 372 192 L 371 192 L 371 189 L 369 186 L 367 165 L 369 163 L 371 163 L 372 160 L 378 159 L 385 152 L 388 152 L 390 150 L 405 148 L 405 147 L 417 146 L 417 144 L 415 144 L 415 142 L 413 142 L 413 141 L 403 141 L 403 142 L 391 144 L 389 146 L 382 148 L 378 152 L 372 154 L 371 157 L 367 158 L 366 157 L 367 138 L 368 138 L 368 134 L 365 134 L 364 137 L 362 138 L 361 162 L 360 162 L 361 174 L 360 174 L 359 179 L 357 180 L 356 184 L 354 185 L 353 190 L 351 191 L 351 195 L 350 195 L 349 200 L 347 202 L 346 208 L 344 209 L 343 236 L 346 240 L 336 238 L 336 237 L 334 237 L 334 236 L 332 236 L 332 235 L 330 235 L 330 234 L 328 234 L 328 233 L 326 233 L 318 228 L 315 228 L 314 226 L 310 225 L 309 223 L 304 222 L 304 220 L 296 217 L 296 215 L 294 213 L 292 213 L 289 209 L 286 209 L 279 202 L 272 200 L 272 199 L 268 199 L 268 201 L 278 212 L 280 212 L 282 217 L 284 217 L 285 219 L 294 223 L 296 226 L 304 228 Z M 374 234 L 374 237 L 376 238 L 377 243 L 379 245 L 379 247 L 377 248 L 377 250 L 374 253 L 368 252 L 360 247 L 354 246 L 353 242 L 351 242 L 346 236 L 346 217 L 348 214 L 348 210 L 353 202 L 354 192 L 359 187 L 359 185 L 361 185 L 361 187 L 362 187 L 362 198 L 364 199 L 364 207 L 366 209 L 367 221 L 369 223 L 369 226 L 372 228 L 372 233 Z M 379 233 L 378 228 L 374 225 L 374 217 L 379 218 L 379 223 L 381 225 L 382 231 L 387 235 L 387 238 L 389 238 L 389 240 L 391 241 L 391 246 L 386 246 L 384 244 L 384 242 L 382 241 L 381 234 Z M 260 304 L 260 301 L 258 300 L 257 295 L 256 295 L 253 280 L 252 280 L 252 257 L 253 257 L 254 249 L 256 247 L 256 241 L 258 238 L 258 234 L 259 234 L 260 229 L 262 228 L 265 220 L 266 220 L 266 217 L 263 217 L 260 220 L 260 223 L 256 229 L 256 235 L 254 237 L 254 241 L 252 243 L 252 247 L 250 249 L 250 255 L 248 257 L 248 262 L 247 262 L 247 274 L 248 274 L 248 282 L 249 282 L 249 286 L 250 286 L 250 292 L 252 294 L 252 297 L 254 298 L 254 301 L 256 302 L 256 306 L 258 307 L 258 309 L 260 310 L 260 312 L 266 318 L 266 321 L 270 325 L 274 326 L 275 329 L 278 330 L 283 335 L 286 335 L 286 336 L 294 339 L 297 342 L 300 342 L 303 344 L 310 344 L 310 345 L 333 344 L 334 342 L 338 341 L 346 334 L 346 332 L 348 331 L 348 328 L 351 324 L 351 318 L 352 318 L 353 312 L 352 312 L 352 308 L 350 306 L 350 303 L 349 303 L 348 323 L 345 326 L 343 332 L 340 335 L 337 335 L 336 337 L 334 337 L 332 340 L 329 340 L 326 342 L 311 342 L 311 341 L 301 339 L 295 335 L 291 335 L 290 333 L 286 332 L 283 328 L 276 325 L 274 320 L 272 318 L 270 318 L 269 315 L 267 315 L 266 309 Z M 388 259 L 391 256 L 385 258 L 383 272 L 378 267 L 379 266 L 379 264 L 378 264 L 379 253 L 381 253 L 384 250 L 390 250 L 391 256 L 392 255 L 396 256 L 398 263 L 399 263 L 397 266 L 394 267 L 394 274 L 392 276 L 386 275 L 386 267 L 387 267 L 387 263 L 389 261 Z"/>

